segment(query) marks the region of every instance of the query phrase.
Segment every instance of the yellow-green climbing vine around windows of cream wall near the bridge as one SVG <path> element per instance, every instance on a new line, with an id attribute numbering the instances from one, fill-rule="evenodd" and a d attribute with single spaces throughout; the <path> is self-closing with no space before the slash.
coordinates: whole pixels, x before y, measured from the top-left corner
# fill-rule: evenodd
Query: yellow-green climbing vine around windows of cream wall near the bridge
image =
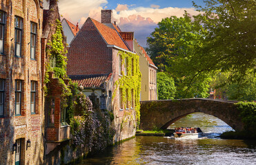
<path id="1" fill-rule="evenodd" d="M 141 72 L 139 71 L 139 56 L 137 56 L 137 54 L 132 54 L 130 52 L 124 51 L 119 51 L 117 56 L 121 57 L 121 65 L 124 65 L 126 67 L 127 72 L 125 73 L 124 71 L 121 71 L 119 80 L 115 82 L 115 91 L 112 98 L 115 98 L 117 89 L 121 90 L 121 98 L 123 100 L 122 103 L 125 105 L 125 107 L 127 103 L 126 101 L 132 100 L 132 98 L 134 98 L 134 108 L 136 112 L 136 120 L 138 126 L 140 118 L 139 94 L 141 91 Z M 131 107 L 131 104 L 132 102 L 129 101 L 129 107 Z M 125 113 L 124 120 L 126 120 L 126 115 L 132 115 L 132 113 Z M 133 120 L 132 117 L 131 119 Z"/>

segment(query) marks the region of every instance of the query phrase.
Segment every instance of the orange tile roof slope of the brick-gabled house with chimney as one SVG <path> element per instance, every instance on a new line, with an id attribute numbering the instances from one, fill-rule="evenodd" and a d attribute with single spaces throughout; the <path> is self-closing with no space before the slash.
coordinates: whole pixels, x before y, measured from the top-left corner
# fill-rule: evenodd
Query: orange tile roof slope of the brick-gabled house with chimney
<path id="1" fill-rule="evenodd" d="M 103 23 L 99 23 L 94 19 L 91 19 L 91 20 L 92 20 L 92 23 L 95 24 L 95 27 L 97 28 L 97 30 L 99 30 L 99 33 L 101 34 L 101 36 L 108 43 L 108 45 L 116 45 L 117 47 L 121 47 L 124 50 L 129 50 L 129 48 L 126 46 L 126 43 L 124 43 L 124 41 L 121 39 L 121 36 L 119 36 L 116 30 L 108 27 L 107 25 L 104 25 Z"/>

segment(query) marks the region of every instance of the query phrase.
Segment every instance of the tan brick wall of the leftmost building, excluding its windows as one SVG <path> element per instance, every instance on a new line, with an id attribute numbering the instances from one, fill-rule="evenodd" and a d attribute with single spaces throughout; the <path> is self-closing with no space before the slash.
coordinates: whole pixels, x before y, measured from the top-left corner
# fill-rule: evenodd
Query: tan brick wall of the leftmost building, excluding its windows
<path id="1" fill-rule="evenodd" d="M 14 164 L 12 145 L 21 139 L 21 164 L 43 162 L 42 84 L 41 84 L 41 25 L 43 10 L 39 1 L 1 1 L 0 10 L 6 13 L 4 54 L 0 55 L 0 78 L 5 80 L 4 116 L 0 118 L 0 164 Z M 14 17 L 23 19 L 21 58 L 14 56 Z M 30 23 L 37 23 L 36 58 L 30 59 Z M 21 115 L 15 116 L 14 82 L 22 82 Z M 36 114 L 30 112 L 30 82 L 37 82 Z M 26 149 L 27 140 L 31 147 Z"/>

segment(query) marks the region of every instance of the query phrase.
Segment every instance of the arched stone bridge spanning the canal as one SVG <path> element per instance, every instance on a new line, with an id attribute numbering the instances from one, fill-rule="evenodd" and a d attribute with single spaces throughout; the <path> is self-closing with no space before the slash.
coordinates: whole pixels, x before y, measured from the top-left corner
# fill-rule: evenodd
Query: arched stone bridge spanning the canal
<path id="1" fill-rule="evenodd" d="M 155 126 L 167 129 L 170 124 L 184 116 L 203 112 L 226 122 L 235 131 L 243 131 L 244 124 L 234 101 L 190 98 L 181 100 L 155 100 L 141 102 L 139 129 L 152 130 Z"/>

